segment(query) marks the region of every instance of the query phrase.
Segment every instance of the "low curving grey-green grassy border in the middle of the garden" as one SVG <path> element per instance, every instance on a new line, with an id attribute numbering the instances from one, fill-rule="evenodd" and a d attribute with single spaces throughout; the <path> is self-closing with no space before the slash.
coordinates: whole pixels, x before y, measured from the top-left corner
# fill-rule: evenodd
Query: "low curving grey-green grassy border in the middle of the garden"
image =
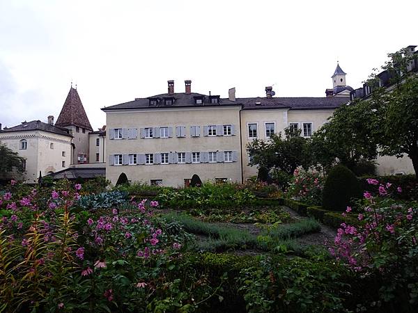
<path id="1" fill-rule="evenodd" d="M 297 223 L 271 227 L 260 236 L 256 236 L 247 230 L 205 223 L 185 214 L 164 214 L 164 218 L 169 222 L 178 220 L 187 232 L 208 236 L 206 241 L 197 243 L 196 248 L 212 252 L 258 249 L 302 254 L 304 248 L 294 239 L 320 230 L 320 224 L 316 220 L 304 219 Z"/>

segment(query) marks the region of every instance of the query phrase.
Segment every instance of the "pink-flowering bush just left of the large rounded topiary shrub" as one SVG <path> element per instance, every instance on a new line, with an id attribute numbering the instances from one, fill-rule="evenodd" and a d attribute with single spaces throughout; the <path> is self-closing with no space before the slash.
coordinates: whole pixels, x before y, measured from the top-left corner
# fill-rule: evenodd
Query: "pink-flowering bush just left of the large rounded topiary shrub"
<path id="1" fill-rule="evenodd" d="M 320 205 L 324 179 L 318 172 L 296 169 L 293 173 L 286 196 L 305 204 Z"/>

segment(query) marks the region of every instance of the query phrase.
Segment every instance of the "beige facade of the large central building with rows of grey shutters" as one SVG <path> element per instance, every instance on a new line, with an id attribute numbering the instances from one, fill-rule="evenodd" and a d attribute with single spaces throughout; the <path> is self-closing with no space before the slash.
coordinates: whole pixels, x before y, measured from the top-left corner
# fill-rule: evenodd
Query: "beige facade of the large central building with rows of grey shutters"
<path id="1" fill-rule="evenodd" d="M 190 179 L 194 174 L 199 175 L 203 181 L 227 179 L 231 182 L 241 182 L 239 111 L 240 106 L 107 112 L 106 150 L 109 156 L 106 168 L 107 179 L 115 184 L 119 175 L 124 172 L 131 181 L 148 184 L 157 181 L 157 184 L 164 186 L 184 186 L 185 179 Z M 205 134 L 206 127 L 210 125 L 219 127 L 217 136 Z M 223 136 L 224 125 L 231 127 L 230 135 Z M 161 138 L 161 128 L 165 127 L 170 129 L 169 133 L 167 133 L 167 138 Z M 182 127 L 181 134 L 178 134 L 178 127 Z M 199 127 L 197 131 L 199 136 L 194 136 L 196 128 L 193 127 Z M 146 128 L 153 129 L 154 138 L 145 138 L 146 134 L 143 132 Z M 136 136 L 114 138 L 114 129 L 136 129 Z M 160 138 L 155 138 L 157 129 L 160 129 Z M 222 136 L 219 136 L 220 132 Z M 199 160 L 194 159 L 193 153 L 197 152 L 199 152 Z M 212 162 L 209 160 L 209 152 L 213 152 L 212 155 L 219 155 L 222 159 L 224 159 L 224 153 L 231 152 L 231 159 L 222 161 L 218 157 L 217 161 Z M 179 159 L 180 153 L 184 153 L 184 160 Z M 137 156 L 137 165 L 129 165 L 129 160 L 124 160 L 125 156 L 129 158 L 130 154 L 132 157 Z M 153 164 L 146 164 L 150 163 L 146 159 L 141 162 L 140 159 L 144 158 L 145 154 L 153 155 Z M 167 164 L 162 164 L 165 162 L 157 160 L 162 157 L 161 154 L 166 154 L 166 156 L 168 154 Z M 115 161 L 115 155 L 122 156 L 121 165 L 118 165 L 118 160 Z M 187 156 L 191 159 L 187 160 Z M 205 159 L 206 157 L 208 159 Z M 183 154 L 180 158 L 183 158 Z"/>

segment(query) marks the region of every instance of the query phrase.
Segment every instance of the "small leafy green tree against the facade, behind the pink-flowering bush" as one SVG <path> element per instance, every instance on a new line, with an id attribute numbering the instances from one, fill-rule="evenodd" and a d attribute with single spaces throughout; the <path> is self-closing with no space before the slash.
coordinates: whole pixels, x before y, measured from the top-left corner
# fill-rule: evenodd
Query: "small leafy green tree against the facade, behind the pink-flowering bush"
<path id="1" fill-rule="evenodd" d="M 298 166 L 304 166 L 307 139 L 300 136 L 300 130 L 292 132 L 285 129 L 285 134 L 272 135 L 268 141 L 254 139 L 247 144 L 251 166 L 270 170 L 275 168 L 293 175 Z"/>

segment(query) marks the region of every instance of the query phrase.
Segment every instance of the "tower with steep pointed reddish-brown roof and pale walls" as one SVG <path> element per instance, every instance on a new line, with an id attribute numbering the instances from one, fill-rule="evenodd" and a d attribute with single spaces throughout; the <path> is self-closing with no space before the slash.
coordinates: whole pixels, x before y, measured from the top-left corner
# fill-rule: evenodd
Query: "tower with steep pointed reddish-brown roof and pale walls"
<path id="1" fill-rule="evenodd" d="M 72 88 L 72 84 L 55 125 L 70 129 L 72 132 L 74 137 L 72 139 L 72 164 L 88 163 L 88 133 L 93 131 L 93 128 L 88 120 L 77 88 Z"/>

